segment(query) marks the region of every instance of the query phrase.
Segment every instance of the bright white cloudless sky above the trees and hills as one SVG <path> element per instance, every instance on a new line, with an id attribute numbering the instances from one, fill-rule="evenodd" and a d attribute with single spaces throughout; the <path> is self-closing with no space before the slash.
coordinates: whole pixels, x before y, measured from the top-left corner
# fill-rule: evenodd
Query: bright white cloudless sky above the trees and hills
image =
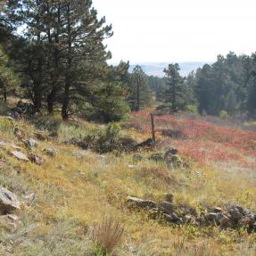
<path id="1" fill-rule="evenodd" d="M 256 0 L 93 0 L 111 62 L 214 62 L 256 52 Z"/>

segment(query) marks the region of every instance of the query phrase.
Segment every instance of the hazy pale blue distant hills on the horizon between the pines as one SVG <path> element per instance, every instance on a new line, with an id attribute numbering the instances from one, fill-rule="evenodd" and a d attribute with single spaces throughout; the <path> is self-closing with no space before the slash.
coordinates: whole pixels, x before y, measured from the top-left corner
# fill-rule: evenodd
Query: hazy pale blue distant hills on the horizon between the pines
<path id="1" fill-rule="evenodd" d="M 180 74 L 182 76 L 187 76 L 191 71 L 201 68 L 206 62 L 180 62 L 178 64 L 180 67 Z M 211 62 L 208 62 L 208 64 L 211 64 Z M 138 65 L 140 65 L 149 76 L 163 77 L 164 73 L 162 70 L 164 70 L 169 63 L 138 63 Z M 135 66 L 136 64 L 131 64 L 129 70 L 132 71 Z"/>

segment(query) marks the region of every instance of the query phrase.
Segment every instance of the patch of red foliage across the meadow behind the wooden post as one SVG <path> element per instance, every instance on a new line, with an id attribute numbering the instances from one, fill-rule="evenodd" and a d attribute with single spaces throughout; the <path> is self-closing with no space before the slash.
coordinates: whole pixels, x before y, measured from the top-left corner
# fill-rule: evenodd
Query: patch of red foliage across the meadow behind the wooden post
<path id="1" fill-rule="evenodd" d="M 149 111 L 135 112 L 132 115 L 132 126 L 150 136 Z M 194 161 L 202 164 L 235 161 L 246 168 L 256 167 L 256 132 L 219 127 L 206 120 L 187 120 L 175 115 L 156 116 L 155 126 L 159 131 L 159 146 L 177 146 L 182 155 Z M 162 137 L 161 130 L 164 128 L 179 129 L 185 137 Z M 248 161 L 248 157 L 252 160 Z"/>

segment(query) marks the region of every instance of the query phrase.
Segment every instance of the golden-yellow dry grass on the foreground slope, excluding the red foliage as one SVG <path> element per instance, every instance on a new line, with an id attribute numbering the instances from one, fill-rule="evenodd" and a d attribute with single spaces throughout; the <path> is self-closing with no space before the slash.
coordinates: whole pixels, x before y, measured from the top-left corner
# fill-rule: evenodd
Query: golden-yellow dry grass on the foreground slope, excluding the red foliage
<path id="1" fill-rule="evenodd" d="M 25 136 L 31 136 L 35 129 L 23 120 L 17 125 L 24 130 Z M 21 145 L 26 153 L 25 147 L 5 124 L 2 127 L 1 139 Z M 83 123 L 82 127 L 90 129 L 90 124 Z M 62 124 L 59 140 L 39 142 L 35 153 L 44 157 L 42 166 L 17 161 L 0 148 L 3 162 L 0 184 L 11 189 L 22 202 L 21 211 L 17 212 L 21 227 L 15 233 L 0 227 L 1 255 L 5 252 L 13 256 L 94 255 L 94 248 L 88 243 L 88 227 L 101 223 L 105 215 L 119 219 L 126 230 L 118 248 L 119 256 L 211 255 L 206 252 L 212 252 L 214 256 L 255 255 L 252 245 L 255 234 L 218 227 L 159 224 L 148 219 L 144 212 L 129 210 L 124 201 L 127 195 L 160 201 L 164 194 L 172 193 L 176 203 L 187 203 L 198 211 L 202 207 L 226 203 L 243 204 L 256 211 L 256 186 L 252 174 L 237 175 L 223 171 L 218 165 L 210 167 L 197 162 L 192 162 L 189 170 L 170 170 L 161 163 L 147 160 L 130 168 L 129 165 L 134 164 L 132 154 L 101 156 L 73 145 L 63 145 L 70 129 L 76 136 L 77 129 L 65 128 Z M 78 133 L 81 130 L 78 128 Z M 125 132 L 138 140 L 147 136 L 135 130 Z M 47 157 L 42 152 L 47 147 L 57 150 L 56 157 Z M 145 158 L 150 154 L 141 153 Z M 235 167 L 236 163 L 231 162 L 230 168 Z M 32 204 L 24 199 L 24 194 L 28 193 L 35 194 Z"/>

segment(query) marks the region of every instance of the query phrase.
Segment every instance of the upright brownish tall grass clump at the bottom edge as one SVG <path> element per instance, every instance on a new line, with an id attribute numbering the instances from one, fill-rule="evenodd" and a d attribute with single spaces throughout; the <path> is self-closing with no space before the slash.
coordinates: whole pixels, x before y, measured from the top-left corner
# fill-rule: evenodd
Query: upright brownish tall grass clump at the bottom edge
<path id="1" fill-rule="evenodd" d="M 111 218 L 104 218 L 103 222 L 95 225 L 91 231 L 91 239 L 95 244 L 95 255 L 112 255 L 120 244 L 124 229 L 120 222 Z"/>

